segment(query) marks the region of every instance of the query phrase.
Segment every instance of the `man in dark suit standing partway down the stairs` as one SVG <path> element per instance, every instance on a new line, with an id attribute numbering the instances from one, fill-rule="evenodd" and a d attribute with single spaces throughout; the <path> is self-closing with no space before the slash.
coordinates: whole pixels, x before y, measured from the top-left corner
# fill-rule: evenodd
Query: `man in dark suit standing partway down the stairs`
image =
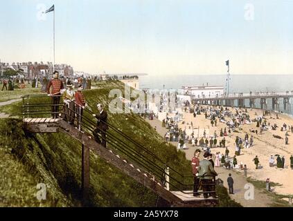
<path id="1" fill-rule="evenodd" d="M 93 114 L 93 116 L 96 117 L 98 121 L 97 121 L 96 129 L 94 130 L 93 134 L 94 134 L 96 142 L 106 147 L 106 132 L 108 130 L 108 125 L 107 125 L 108 115 L 107 115 L 107 112 L 104 111 L 102 104 L 98 104 L 97 107 L 98 107 L 99 114 L 98 115 Z M 102 142 L 100 141 L 100 137 L 98 134 L 102 136 Z"/>

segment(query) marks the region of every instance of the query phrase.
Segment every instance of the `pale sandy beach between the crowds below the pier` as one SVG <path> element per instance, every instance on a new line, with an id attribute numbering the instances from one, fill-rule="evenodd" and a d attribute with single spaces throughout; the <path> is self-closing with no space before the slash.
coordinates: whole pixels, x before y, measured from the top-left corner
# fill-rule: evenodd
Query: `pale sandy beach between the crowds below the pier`
<path id="1" fill-rule="evenodd" d="M 233 113 L 236 112 L 236 108 L 229 108 L 230 111 Z M 245 111 L 242 109 L 242 111 Z M 248 109 L 247 111 L 251 117 L 251 119 L 254 119 L 257 116 L 263 116 L 263 111 L 260 109 Z M 271 119 L 272 117 L 272 119 Z M 268 130 L 263 131 L 263 134 L 260 135 L 258 132 L 258 135 L 256 133 L 251 133 L 249 129 L 258 129 L 256 128 L 256 122 L 252 122 L 251 124 L 244 124 L 241 126 L 242 131 L 239 131 L 239 133 L 231 133 L 231 137 L 226 136 L 225 139 L 227 140 L 226 146 L 229 149 L 229 157 L 233 157 L 235 153 L 235 140 L 236 136 L 242 137 L 242 139 L 245 137 L 245 133 L 249 135 L 254 136 L 254 145 L 250 148 L 242 148 L 241 154 L 237 156 L 238 164 L 242 162 L 242 164 L 247 164 L 247 176 L 256 179 L 256 180 L 263 180 L 265 181 L 267 178 L 270 179 L 271 182 L 275 182 L 278 184 L 281 184 L 281 186 L 276 186 L 276 193 L 281 193 L 284 195 L 293 195 L 293 170 L 290 169 L 290 155 L 293 153 L 293 133 L 291 131 L 288 131 L 289 133 L 289 144 L 285 145 L 285 131 L 281 131 L 281 126 L 285 123 L 288 126 L 293 125 L 293 118 L 288 115 L 283 115 L 278 113 L 278 118 L 276 119 L 276 113 L 271 111 L 271 115 L 265 116 L 267 119 L 267 124 L 270 123 L 270 125 L 276 124 L 278 128 L 276 131 Z M 217 133 L 217 142 L 219 140 L 222 140 L 222 137 L 219 137 L 220 135 L 220 129 L 222 128 L 224 131 L 224 128 L 227 127 L 224 123 L 217 123 L 217 126 L 211 126 L 210 120 L 205 119 L 204 115 L 197 115 L 196 117 L 193 117 L 192 113 L 184 113 L 183 120 L 185 124 L 182 124 L 179 122 L 179 128 L 186 128 L 186 124 L 190 124 L 193 122 L 193 126 L 200 127 L 200 128 L 209 128 L 210 135 L 213 135 L 214 131 Z M 273 137 L 273 135 L 279 135 L 283 139 L 278 139 Z M 211 153 L 215 154 L 216 152 L 220 152 L 224 154 L 225 148 L 211 148 Z M 281 155 L 281 157 L 285 156 L 285 169 L 277 169 L 276 166 L 269 167 L 269 157 L 271 155 Z M 260 165 L 263 166 L 262 169 L 256 169 L 253 159 L 255 156 L 258 156 L 258 159 L 260 161 Z M 186 155 L 187 157 L 187 155 Z M 189 156 L 189 157 L 192 157 Z M 275 164 L 276 164 L 276 157 L 275 157 Z M 237 171 L 241 171 L 240 169 L 236 169 Z M 243 172 L 243 171 L 241 171 Z"/>

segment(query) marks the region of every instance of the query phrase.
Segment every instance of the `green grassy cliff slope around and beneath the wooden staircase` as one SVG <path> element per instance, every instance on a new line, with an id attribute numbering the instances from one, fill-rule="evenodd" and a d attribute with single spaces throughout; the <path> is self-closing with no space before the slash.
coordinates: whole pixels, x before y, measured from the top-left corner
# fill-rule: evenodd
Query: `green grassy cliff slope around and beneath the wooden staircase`
<path id="1" fill-rule="evenodd" d="M 113 88 L 124 90 L 120 81 L 100 83 L 95 90 L 85 90 L 87 102 L 94 112 L 100 102 L 107 109 L 111 101 L 109 91 Z M 81 144 L 62 133 L 26 133 L 21 119 L 17 119 L 21 116 L 20 110 L 21 102 L 0 108 L 1 112 L 15 116 L 15 119 L 0 120 L 0 206 L 82 206 Z M 163 142 L 139 115 L 109 113 L 109 122 L 181 174 L 190 175 L 190 161 L 186 160 L 185 153 L 177 152 L 175 146 Z M 94 153 L 90 160 L 91 206 L 155 205 L 157 195 L 152 191 Z M 184 182 L 180 176 L 171 175 Z M 38 183 L 47 186 L 47 199 L 41 202 L 36 198 Z M 223 198 L 228 199 L 226 205 L 233 206 L 227 195 Z"/>

